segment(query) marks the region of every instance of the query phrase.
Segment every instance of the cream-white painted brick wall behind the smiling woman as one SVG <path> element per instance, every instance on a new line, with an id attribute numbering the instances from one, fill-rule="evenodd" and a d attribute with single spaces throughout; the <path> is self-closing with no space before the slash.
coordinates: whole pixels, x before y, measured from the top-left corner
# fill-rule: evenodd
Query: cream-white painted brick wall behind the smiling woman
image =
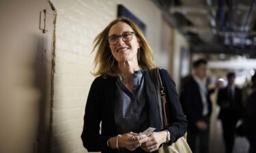
<path id="1" fill-rule="evenodd" d="M 157 54 L 162 14 L 149 0 L 51 2 L 57 11 L 51 152 L 87 152 L 80 136 L 85 102 L 94 80 L 90 74 L 94 69 L 94 37 L 116 18 L 117 4 L 123 4 L 147 25 L 147 40 Z"/>

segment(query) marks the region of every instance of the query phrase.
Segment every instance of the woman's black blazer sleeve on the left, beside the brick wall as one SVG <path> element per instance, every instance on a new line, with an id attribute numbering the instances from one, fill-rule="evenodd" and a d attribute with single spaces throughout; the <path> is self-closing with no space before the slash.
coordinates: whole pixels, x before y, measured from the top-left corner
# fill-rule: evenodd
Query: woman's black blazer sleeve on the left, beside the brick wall
<path id="1" fill-rule="evenodd" d="M 110 150 L 106 142 L 109 136 L 100 135 L 100 122 L 102 121 L 102 78 L 96 78 L 91 84 L 87 103 L 83 133 L 81 138 L 83 146 L 88 152 L 100 152 Z"/>

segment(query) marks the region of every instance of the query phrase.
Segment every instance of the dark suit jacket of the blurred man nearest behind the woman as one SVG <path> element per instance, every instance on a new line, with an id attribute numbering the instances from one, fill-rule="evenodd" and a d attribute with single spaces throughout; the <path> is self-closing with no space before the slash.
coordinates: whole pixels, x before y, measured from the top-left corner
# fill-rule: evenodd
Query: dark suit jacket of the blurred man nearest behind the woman
<path id="1" fill-rule="evenodd" d="M 208 117 L 212 112 L 212 101 L 210 100 L 210 94 L 214 90 L 208 90 L 207 101 L 208 101 Z M 180 101 L 184 110 L 184 114 L 188 119 L 188 129 L 198 130 L 195 125 L 197 121 L 203 120 L 203 101 L 201 99 L 201 93 L 199 91 L 199 85 L 190 76 L 186 78 L 186 82 L 182 87 L 182 92 L 180 95 Z"/>

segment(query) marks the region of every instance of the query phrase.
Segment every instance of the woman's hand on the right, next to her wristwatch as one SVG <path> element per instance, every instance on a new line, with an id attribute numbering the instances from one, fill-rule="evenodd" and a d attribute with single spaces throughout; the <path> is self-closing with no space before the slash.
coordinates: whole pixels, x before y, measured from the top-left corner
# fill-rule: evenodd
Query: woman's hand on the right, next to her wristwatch
<path id="1" fill-rule="evenodd" d="M 141 144 L 141 148 L 145 150 L 145 152 L 154 152 L 166 141 L 167 131 L 154 132 L 146 137 L 146 141 Z"/>

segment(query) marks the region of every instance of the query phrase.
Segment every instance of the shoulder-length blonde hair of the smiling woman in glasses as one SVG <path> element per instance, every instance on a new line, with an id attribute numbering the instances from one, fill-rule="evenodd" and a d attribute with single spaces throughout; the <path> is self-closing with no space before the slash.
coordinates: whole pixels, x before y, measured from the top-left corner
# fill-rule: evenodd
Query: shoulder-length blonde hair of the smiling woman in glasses
<path id="1" fill-rule="evenodd" d="M 94 48 L 93 52 L 96 50 L 96 56 L 94 58 L 94 68 L 96 71 L 92 73 L 94 76 L 99 75 L 111 75 L 116 76 L 119 75 L 119 70 L 117 67 L 117 61 L 113 57 L 111 53 L 111 49 L 109 48 L 109 30 L 111 27 L 116 24 L 117 22 L 125 22 L 128 24 L 136 33 L 136 36 L 140 40 L 141 48 L 138 51 L 140 54 L 138 62 L 139 66 L 142 70 L 149 70 L 155 67 L 153 63 L 153 52 L 150 46 L 147 44 L 145 36 L 141 32 L 141 29 L 129 18 L 119 17 L 112 22 L 101 32 L 99 33 L 96 38 L 94 39 Z"/>

